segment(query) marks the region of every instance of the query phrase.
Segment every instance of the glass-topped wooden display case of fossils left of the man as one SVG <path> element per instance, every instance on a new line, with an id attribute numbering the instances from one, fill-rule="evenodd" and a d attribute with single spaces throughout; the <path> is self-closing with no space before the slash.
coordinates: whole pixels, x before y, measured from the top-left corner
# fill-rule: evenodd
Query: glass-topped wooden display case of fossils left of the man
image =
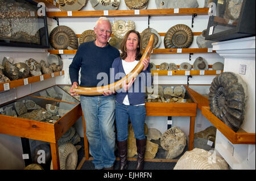
<path id="1" fill-rule="evenodd" d="M 80 102 L 52 86 L 0 105 L 0 133 L 49 142 L 53 169 L 60 169 L 57 141 L 81 116 Z"/>

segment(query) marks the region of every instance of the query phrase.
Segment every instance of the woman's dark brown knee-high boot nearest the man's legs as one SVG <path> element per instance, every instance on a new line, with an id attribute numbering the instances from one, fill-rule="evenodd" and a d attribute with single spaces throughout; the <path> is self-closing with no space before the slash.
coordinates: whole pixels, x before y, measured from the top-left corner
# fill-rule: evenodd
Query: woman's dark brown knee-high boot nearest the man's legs
<path id="1" fill-rule="evenodd" d="M 119 170 L 127 169 L 127 140 L 117 141 L 118 153 L 119 153 Z"/>

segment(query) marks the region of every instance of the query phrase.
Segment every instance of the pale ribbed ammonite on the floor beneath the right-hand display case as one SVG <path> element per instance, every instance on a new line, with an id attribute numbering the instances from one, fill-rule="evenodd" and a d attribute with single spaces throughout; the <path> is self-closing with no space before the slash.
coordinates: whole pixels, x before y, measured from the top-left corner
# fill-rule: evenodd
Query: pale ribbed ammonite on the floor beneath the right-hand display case
<path id="1" fill-rule="evenodd" d="M 172 127 L 162 134 L 161 146 L 164 150 L 168 150 L 166 159 L 179 156 L 186 145 L 185 133 L 178 127 Z"/>

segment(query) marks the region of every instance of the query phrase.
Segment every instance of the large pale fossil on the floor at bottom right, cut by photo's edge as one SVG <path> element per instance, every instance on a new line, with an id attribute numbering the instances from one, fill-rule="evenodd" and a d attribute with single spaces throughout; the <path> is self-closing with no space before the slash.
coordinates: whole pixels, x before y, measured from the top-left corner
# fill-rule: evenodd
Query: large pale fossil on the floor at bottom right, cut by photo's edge
<path id="1" fill-rule="evenodd" d="M 186 151 L 177 161 L 174 170 L 228 170 L 225 159 L 204 149 Z"/>

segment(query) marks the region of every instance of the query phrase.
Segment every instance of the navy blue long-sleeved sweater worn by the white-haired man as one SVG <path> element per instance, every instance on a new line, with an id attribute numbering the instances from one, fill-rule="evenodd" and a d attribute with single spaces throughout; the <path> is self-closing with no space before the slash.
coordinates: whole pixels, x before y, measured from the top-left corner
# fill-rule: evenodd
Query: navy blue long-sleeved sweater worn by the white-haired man
<path id="1" fill-rule="evenodd" d="M 114 59 L 119 55 L 119 50 L 109 44 L 105 47 L 97 47 L 94 41 L 82 43 L 77 49 L 71 65 L 69 65 L 69 77 L 72 85 L 73 82 L 79 83 L 80 68 L 81 79 L 79 86 L 97 87 L 98 83 L 102 81 L 101 75 L 105 76 L 104 78 L 106 78 L 106 75 L 108 76 L 108 82 L 106 82 L 106 85 L 108 85 L 110 82 L 110 68 Z"/>

